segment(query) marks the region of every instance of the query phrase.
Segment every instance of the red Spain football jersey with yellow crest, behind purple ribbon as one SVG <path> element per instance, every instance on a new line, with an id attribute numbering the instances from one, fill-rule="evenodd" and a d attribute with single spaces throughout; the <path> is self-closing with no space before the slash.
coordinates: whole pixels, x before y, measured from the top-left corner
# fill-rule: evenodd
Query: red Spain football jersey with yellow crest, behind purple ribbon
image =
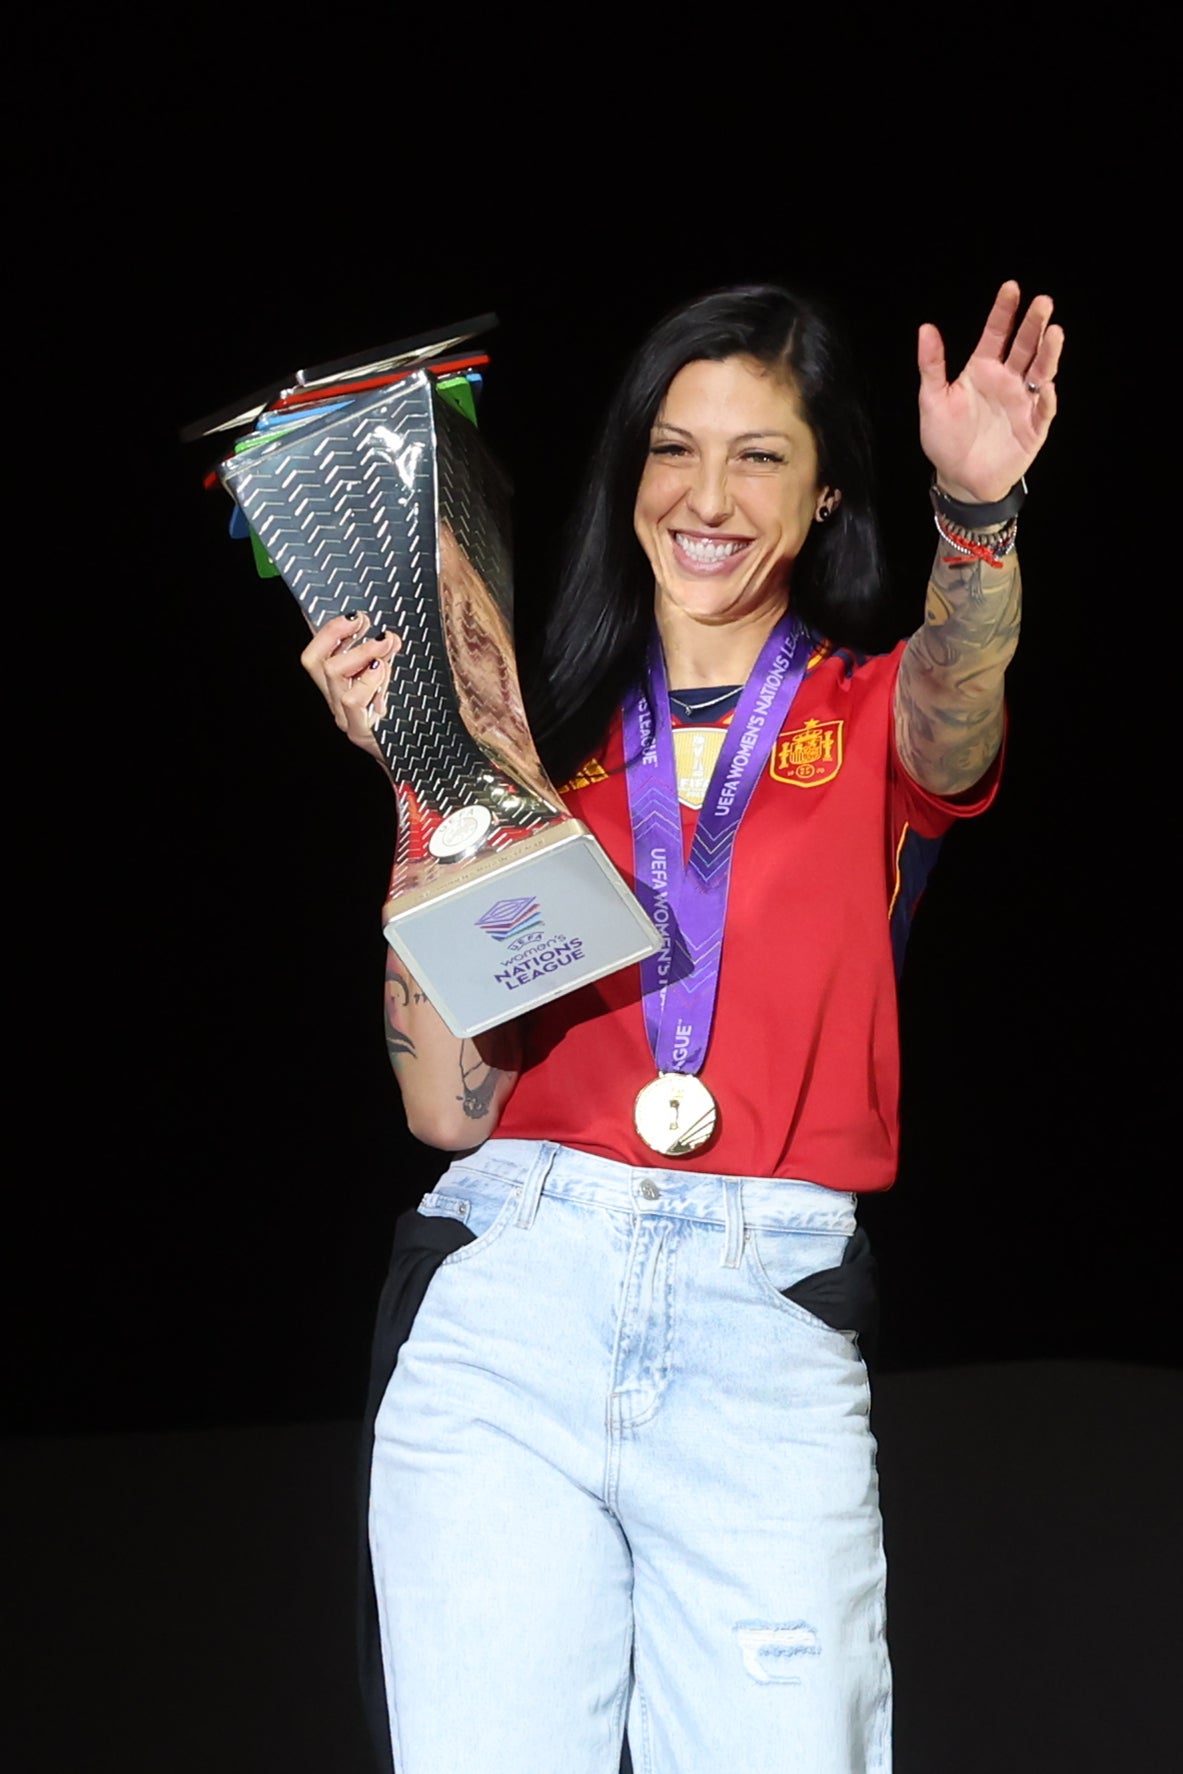
<path id="1" fill-rule="evenodd" d="M 811 660 L 734 844 L 701 1071 L 718 1128 L 665 1166 L 853 1190 L 896 1176 L 896 974 L 908 922 L 942 834 L 984 811 L 997 786 L 995 766 L 954 804 L 906 775 L 892 722 L 903 646 L 867 660 L 819 649 Z M 722 733 L 674 718 L 686 852 Z M 633 885 L 619 718 L 564 800 Z M 654 1162 L 633 1126 L 637 1091 L 656 1073 L 639 967 L 530 1011 L 523 1043 L 498 1137 Z"/>

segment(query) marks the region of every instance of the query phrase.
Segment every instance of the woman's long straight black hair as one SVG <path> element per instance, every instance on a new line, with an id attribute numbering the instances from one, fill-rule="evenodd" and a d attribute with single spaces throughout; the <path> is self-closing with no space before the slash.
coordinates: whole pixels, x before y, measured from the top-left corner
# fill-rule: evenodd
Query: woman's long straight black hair
<path id="1" fill-rule="evenodd" d="M 842 493 L 793 562 L 793 608 L 819 635 L 855 640 L 878 601 L 871 428 L 832 321 L 775 284 L 720 289 L 676 309 L 649 334 L 608 408 L 530 672 L 534 736 L 557 782 L 596 750 L 644 665 L 653 568 L 633 532 L 633 506 L 662 399 L 685 364 L 727 357 L 756 358 L 791 383 L 818 445 L 819 484 Z"/>

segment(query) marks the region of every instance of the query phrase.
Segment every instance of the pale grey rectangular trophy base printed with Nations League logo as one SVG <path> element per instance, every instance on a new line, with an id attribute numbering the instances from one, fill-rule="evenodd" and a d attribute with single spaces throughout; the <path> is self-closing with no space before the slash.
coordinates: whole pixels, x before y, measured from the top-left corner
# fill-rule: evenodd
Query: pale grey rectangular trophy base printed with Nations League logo
<path id="1" fill-rule="evenodd" d="M 662 940 L 578 820 L 396 899 L 383 935 L 452 1034 L 481 1034 L 656 954 Z"/>

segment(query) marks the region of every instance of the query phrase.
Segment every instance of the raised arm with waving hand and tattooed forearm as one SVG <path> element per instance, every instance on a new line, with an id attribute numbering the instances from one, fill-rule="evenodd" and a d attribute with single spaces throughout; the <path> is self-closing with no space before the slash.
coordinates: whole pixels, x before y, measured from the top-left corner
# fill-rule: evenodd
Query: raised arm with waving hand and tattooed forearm
<path id="1" fill-rule="evenodd" d="M 1064 330 L 1036 296 L 1018 319 L 1018 284 L 1004 284 L 956 381 L 945 348 L 921 326 L 921 445 L 936 483 L 967 506 L 1006 498 L 1043 449 L 1055 417 L 1055 371 Z M 990 530 L 981 532 L 988 539 Z M 935 795 L 961 795 L 1002 743 L 1002 676 L 1018 644 L 1020 578 L 1002 566 L 951 562 L 938 546 L 924 624 L 905 648 L 896 681 L 896 747 L 905 768 Z"/>

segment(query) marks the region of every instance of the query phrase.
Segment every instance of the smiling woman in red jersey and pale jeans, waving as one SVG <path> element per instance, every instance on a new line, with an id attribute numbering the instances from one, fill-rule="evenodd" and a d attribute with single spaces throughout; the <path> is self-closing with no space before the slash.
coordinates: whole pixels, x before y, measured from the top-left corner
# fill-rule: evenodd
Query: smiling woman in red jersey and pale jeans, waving
<path id="1" fill-rule="evenodd" d="M 610 1774 L 624 1726 L 654 1774 L 890 1765 L 853 1210 L 894 1176 L 892 949 L 995 786 L 1062 344 L 1018 307 L 1004 284 L 952 383 L 921 328 L 938 552 L 881 658 L 823 639 L 878 545 L 811 307 L 690 303 L 608 415 L 532 718 L 678 940 L 477 1043 L 390 958 L 408 1121 L 468 1153 L 419 1210 L 450 1254 L 376 1425 L 399 1774 Z M 397 639 L 355 635 L 305 665 L 374 752 Z"/>

